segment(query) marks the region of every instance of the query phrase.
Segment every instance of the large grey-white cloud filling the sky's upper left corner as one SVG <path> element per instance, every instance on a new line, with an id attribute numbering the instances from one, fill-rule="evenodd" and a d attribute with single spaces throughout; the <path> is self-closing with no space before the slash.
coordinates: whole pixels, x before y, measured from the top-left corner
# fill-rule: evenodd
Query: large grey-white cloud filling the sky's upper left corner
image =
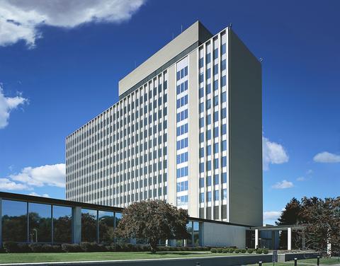
<path id="1" fill-rule="evenodd" d="M 34 47 L 39 27 L 74 28 L 83 23 L 128 21 L 145 0 L 2 0 L 0 46 L 24 40 Z"/>

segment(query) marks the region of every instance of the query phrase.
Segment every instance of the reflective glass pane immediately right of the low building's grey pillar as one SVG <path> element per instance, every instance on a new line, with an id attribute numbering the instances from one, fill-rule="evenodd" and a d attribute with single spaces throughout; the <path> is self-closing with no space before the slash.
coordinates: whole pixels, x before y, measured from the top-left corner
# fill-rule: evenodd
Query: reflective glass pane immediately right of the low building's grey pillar
<path id="1" fill-rule="evenodd" d="M 81 241 L 97 241 L 97 211 L 81 209 Z"/>

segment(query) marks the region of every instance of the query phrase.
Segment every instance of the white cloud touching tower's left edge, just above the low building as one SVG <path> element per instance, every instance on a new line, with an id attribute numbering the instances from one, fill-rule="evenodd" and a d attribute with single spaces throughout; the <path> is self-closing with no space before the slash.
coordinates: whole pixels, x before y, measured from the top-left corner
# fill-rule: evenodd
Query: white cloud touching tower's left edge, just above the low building
<path id="1" fill-rule="evenodd" d="M 26 167 L 21 173 L 9 175 L 14 181 L 21 182 L 29 187 L 42 187 L 45 185 L 64 187 L 65 186 L 65 164 Z"/>

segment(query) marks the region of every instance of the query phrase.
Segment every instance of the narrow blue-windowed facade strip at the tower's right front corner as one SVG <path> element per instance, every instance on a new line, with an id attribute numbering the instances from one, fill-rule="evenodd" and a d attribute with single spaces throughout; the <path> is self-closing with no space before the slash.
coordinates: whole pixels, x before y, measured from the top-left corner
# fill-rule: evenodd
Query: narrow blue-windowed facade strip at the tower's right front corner
<path id="1" fill-rule="evenodd" d="M 227 33 L 198 50 L 200 218 L 227 220 Z"/>

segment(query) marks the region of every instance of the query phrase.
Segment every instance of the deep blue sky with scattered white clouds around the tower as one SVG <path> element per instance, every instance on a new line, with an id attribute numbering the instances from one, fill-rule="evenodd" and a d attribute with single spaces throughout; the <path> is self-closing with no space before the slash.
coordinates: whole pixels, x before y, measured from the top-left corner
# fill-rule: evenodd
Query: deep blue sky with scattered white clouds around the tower
<path id="1" fill-rule="evenodd" d="M 48 3 L 48 4 L 47 4 Z M 64 141 L 181 28 L 232 29 L 263 71 L 263 218 L 340 196 L 340 1 L 0 0 L 0 190 L 64 199 Z"/>

